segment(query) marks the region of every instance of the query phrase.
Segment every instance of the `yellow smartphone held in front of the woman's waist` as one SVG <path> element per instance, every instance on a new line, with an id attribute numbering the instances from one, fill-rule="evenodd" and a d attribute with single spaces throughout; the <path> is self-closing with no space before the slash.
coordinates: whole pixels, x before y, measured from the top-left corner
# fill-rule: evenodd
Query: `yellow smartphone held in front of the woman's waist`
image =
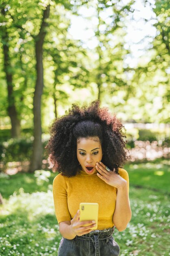
<path id="1" fill-rule="evenodd" d="M 92 229 L 97 229 L 98 226 L 98 203 L 80 203 L 80 221 L 95 220 L 96 226 Z M 84 227 L 89 224 L 84 225 Z"/>

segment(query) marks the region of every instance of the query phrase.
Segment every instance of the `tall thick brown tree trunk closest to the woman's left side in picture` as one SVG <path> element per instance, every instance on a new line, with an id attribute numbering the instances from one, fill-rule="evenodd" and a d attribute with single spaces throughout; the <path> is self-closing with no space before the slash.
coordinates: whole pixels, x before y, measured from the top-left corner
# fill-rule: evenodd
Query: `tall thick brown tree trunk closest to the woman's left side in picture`
<path id="1" fill-rule="evenodd" d="M 41 95 L 44 87 L 43 77 L 43 43 L 46 36 L 45 28 L 48 25 L 45 21 L 50 14 L 50 5 L 44 10 L 43 19 L 39 34 L 35 38 L 35 55 L 36 55 L 36 70 L 37 81 L 35 85 L 34 99 L 33 99 L 33 114 L 34 114 L 34 142 L 33 155 L 31 159 L 30 172 L 41 169 L 42 165 L 42 143 L 41 143 Z"/>

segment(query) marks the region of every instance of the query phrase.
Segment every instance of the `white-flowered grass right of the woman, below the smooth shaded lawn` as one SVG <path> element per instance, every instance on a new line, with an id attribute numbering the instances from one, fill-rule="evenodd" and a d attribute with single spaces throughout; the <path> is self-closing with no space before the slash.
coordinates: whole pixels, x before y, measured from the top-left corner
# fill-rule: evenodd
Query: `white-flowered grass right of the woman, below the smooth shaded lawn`
<path id="1" fill-rule="evenodd" d="M 168 196 L 148 189 L 131 187 L 130 201 L 133 216 L 123 232 L 116 231 L 115 238 L 121 248 L 121 256 L 169 255 Z M 128 247 L 127 247 L 128 246 Z M 168 249 L 169 248 L 169 249 Z"/>

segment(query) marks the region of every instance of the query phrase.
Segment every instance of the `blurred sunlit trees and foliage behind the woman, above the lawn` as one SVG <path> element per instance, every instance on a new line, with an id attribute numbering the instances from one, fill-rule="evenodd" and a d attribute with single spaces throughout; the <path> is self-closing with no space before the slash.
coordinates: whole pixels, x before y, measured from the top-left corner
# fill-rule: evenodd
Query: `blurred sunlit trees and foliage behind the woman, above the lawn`
<path id="1" fill-rule="evenodd" d="M 1 1 L 1 168 L 26 160 L 29 171 L 40 169 L 51 121 L 95 99 L 122 119 L 129 148 L 167 146 L 169 14 L 159 0 Z M 75 19 L 88 40 L 72 33 Z M 134 22 L 151 30 L 127 39 Z"/>

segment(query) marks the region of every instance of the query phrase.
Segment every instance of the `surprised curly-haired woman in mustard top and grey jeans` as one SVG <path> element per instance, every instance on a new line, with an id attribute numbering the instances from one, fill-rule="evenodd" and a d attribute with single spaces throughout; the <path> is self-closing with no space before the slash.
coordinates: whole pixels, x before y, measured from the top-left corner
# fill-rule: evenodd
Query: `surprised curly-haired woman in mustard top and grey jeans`
<path id="1" fill-rule="evenodd" d="M 129 176 L 120 168 L 128 159 L 122 124 L 94 101 L 72 109 L 51 126 L 47 148 L 53 172 L 53 197 L 59 231 L 58 256 L 117 256 L 114 228 L 131 220 Z M 80 222 L 79 204 L 99 204 L 98 229 Z M 88 226 L 84 227 L 88 223 Z"/>

